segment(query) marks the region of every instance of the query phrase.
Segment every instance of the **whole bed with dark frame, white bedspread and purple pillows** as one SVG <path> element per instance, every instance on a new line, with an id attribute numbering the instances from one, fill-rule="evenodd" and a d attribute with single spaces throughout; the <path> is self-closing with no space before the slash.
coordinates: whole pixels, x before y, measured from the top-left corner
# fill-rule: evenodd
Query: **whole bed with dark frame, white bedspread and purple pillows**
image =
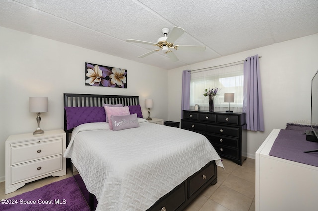
<path id="1" fill-rule="evenodd" d="M 91 210 L 181 211 L 217 183 L 223 165 L 203 135 L 141 115 L 138 96 L 64 94 L 64 156 Z M 120 128 L 119 118 L 134 126 Z"/>

